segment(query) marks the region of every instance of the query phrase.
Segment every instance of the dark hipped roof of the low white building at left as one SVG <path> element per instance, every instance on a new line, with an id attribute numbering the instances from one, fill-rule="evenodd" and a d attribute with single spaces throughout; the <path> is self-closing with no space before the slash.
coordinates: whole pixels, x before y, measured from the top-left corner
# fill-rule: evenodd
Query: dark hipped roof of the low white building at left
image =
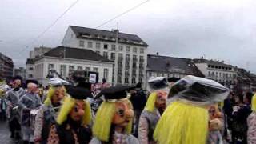
<path id="1" fill-rule="evenodd" d="M 74 47 L 58 46 L 43 54 L 43 56 L 64 58 L 64 51 L 66 51 L 65 58 L 85 59 L 90 61 L 113 62 L 95 53 L 92 50 L 79 49 Z"/>

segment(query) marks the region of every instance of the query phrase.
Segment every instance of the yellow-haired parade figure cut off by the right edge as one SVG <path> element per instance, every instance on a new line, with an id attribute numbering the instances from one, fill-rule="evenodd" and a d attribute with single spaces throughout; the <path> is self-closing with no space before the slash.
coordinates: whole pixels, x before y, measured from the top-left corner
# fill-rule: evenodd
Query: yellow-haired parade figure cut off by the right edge
<path id="1" fill-rule="evenodd" d="M 247 142 L 248 144 L 254 144 L 256 142 L 256 94 L 254 94 L 251 100 L 252 113 L 247 118 Z"/>

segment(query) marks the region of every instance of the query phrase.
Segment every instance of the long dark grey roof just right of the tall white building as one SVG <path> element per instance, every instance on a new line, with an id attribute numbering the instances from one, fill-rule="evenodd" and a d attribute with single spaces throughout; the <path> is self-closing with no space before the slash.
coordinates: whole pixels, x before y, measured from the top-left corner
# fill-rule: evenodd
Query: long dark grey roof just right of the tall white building
<path id="1" fill-rule="evenodd" d="M 204 77 L 198 67 L 194 65 L 189 58 L 174 58 L 160 56 L 155 54 L 147 55 L 147 68 L 153 71 L 162 71 L 166 73 L 191 74 L 198 77 Z"/>

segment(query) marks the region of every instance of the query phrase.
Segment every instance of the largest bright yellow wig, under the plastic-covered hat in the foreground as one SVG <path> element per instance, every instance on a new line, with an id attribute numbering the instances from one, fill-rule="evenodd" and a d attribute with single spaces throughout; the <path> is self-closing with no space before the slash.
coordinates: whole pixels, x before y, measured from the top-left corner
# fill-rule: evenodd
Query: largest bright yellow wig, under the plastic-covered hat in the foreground
<path id="1" fill-rule="evenodd" d="M 205 144 L 208 119 L 205 108 L 173 102 L 158 121 L 154 140 L 158 144 Z"/>

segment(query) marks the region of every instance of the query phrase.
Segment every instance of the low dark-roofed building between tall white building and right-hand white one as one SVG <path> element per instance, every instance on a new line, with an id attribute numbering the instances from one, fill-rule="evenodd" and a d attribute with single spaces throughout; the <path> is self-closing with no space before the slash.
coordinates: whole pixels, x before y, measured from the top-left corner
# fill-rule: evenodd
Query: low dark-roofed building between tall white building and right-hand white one
<path id="1" fill-rule="evenodd" d="M 147 55 L 146 80 L 152 76 L 183 78 L 186 75 L 204 77 L 189 58 L 174 58 L 158 54 Z"/>

